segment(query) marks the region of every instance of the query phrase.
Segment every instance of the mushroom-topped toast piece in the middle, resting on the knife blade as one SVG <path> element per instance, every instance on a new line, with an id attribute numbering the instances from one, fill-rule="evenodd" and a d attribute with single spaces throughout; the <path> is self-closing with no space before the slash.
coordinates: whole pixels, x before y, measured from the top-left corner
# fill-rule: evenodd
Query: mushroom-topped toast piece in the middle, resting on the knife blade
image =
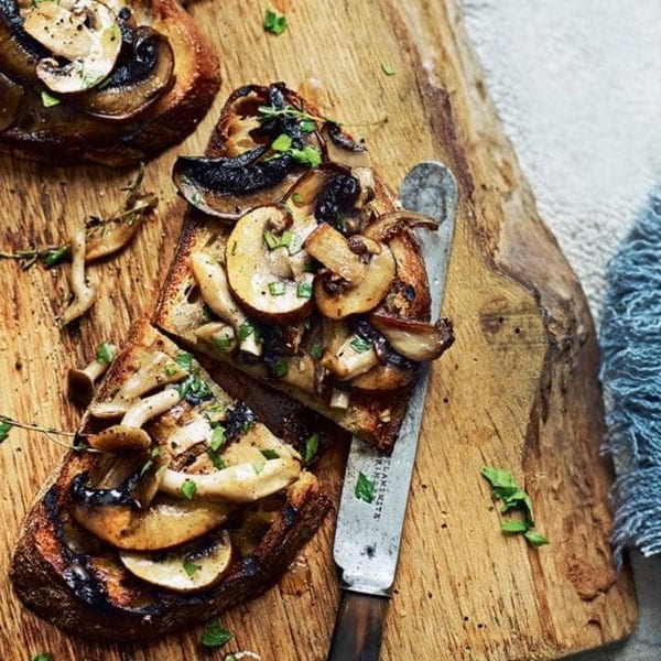
<path id="1" fill-rule="evenodd" d="M 193 208 L 154 324 L 389 451 L 420 362 L 453 339 L 413 234 L 435 224 L 283 84 L 236 90 L 174 180 Z"/>

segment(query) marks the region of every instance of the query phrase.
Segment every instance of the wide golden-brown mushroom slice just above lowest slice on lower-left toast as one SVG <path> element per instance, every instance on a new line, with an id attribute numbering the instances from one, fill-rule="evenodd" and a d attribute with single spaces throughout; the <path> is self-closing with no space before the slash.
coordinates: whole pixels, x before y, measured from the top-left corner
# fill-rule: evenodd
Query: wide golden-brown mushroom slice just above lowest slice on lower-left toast
<path id="1" fill-rule="evenodd" d="M 160 494 L 144 510 L 76 503 L 73 514 L 83 528 L 112 546 L 158 551 L 202 537 L 225 522 L 235 507 L 228 501 L 191 501 Z"/>

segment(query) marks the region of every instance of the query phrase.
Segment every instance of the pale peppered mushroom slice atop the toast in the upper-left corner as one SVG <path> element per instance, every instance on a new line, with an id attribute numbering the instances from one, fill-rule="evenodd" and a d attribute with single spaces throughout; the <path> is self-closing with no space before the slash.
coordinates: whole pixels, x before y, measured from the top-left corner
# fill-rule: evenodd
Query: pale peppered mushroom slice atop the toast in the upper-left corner
<path id="1" fill-rule="evenodd" d="M 43 0 L 25 14 L 23 30 L 53 54 L 39 61 L 36 75 L 57 94 L 105 80 L 121 50 L 116 15 L 97 0 Z"/>

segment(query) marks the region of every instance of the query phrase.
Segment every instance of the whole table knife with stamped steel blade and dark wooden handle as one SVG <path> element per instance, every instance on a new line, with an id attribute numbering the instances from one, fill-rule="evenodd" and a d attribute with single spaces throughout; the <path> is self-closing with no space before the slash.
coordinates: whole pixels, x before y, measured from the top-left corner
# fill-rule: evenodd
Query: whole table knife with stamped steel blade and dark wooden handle
<path id="1" fill-rule="evenodd" d="M 432 318 L 437 318 L 454 232 L 456 181 L 442 163 L 424 161 L 404 176 L 400 199 L 405 209 L 425 214 L 438 223 L 436 231 L 419 236 L 430 282 Z M 342 572 L 342 598 L 328 661 L 379 658 L 429 379 L 430 366 L 422 365 L 391 455 L 378 452 L 360 438 L 351 440 L 333 548 L 333 557 Z M 370 502 L 356 495 L 360 479 L 373 487 Z"/>

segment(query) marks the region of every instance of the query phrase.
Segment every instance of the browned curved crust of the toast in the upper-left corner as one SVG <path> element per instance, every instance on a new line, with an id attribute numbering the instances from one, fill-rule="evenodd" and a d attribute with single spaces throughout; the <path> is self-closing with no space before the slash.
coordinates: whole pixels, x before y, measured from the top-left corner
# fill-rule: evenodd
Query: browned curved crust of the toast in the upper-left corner
<path id="1" fill-rule="evenodd" d="M 140 24 L 167 37 L 174 83 L 143 112 L 105 120 L 66 104 L 44 107 L 26 88 L 13 124 L 0 132 L 0 151 L 55 164 L 96 162 L 134 165 L 153 159 L 192 133 L 220 86 L 219 63 L 206 35 L 176 0 L 133 0 Z"/>

